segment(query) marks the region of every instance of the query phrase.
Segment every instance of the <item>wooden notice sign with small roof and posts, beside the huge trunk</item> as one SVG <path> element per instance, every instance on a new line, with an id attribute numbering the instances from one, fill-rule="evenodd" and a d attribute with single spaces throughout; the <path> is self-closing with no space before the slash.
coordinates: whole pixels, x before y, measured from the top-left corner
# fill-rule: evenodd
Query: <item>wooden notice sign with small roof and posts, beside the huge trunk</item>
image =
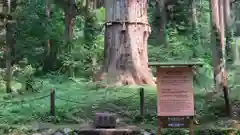
<path id="1" fill-rule="evenodd" d="M 196 64 L 150 64 L 157 67 L 158 135 L 161 128 L 189 128 L 194 135 L 192 66 Z"/>

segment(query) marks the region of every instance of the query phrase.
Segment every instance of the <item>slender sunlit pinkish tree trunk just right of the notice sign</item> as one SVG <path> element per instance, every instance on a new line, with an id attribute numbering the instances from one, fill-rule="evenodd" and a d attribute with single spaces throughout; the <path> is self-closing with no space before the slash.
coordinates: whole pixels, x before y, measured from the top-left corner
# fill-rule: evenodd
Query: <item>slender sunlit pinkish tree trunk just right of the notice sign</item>
<path id="1" fill-rule="evenodd" d="M 214 82 L 216 90 L 223 90 L 226 109 L 229 113 L 230 105 L 227 91 L 225 69 L 225 33 L 224 33 L 224 1 L 211 0 L 212 19 L 212 54 L 214 67 Z"/>

